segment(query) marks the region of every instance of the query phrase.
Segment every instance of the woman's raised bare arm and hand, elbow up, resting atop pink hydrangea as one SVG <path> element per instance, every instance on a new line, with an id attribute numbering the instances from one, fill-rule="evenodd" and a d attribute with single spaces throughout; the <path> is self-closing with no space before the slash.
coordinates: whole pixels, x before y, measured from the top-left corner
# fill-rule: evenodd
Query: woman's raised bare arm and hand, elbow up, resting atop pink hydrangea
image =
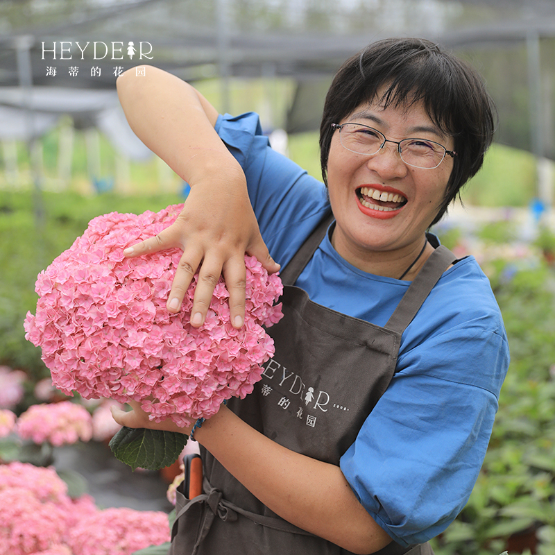
<path id="1" fill-rule="evenodd" d="M 215 108 L 191 85 L 155 67 L 144 76 L 126 71 L 117 80 L 119 99 L 128 122 L 148 146 L 191 192 L 173 225 L 157 237 L 142 241 L 128 256 L 164 248 L 183 250 L 168 309 L 180 309 L 194 273 L 199 282 L 191 310 L 191 324 L 205 321 L 212 292 L 223 273 L 230 291 L 230 319 L 244 323 L 245 265 L 248 253 L 268 272 L 279 269 L 271 259 L 250 205 L 243 170 L 214 130 Z"/>

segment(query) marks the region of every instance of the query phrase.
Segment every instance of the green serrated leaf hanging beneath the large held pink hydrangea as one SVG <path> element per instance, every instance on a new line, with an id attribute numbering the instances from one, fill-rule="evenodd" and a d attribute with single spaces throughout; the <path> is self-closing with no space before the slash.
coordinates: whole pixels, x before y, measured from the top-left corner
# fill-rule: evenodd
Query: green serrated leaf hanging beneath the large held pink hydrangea
<path id="1" fill-rule="evenodd" d="M 124 426 L 110 441 L 110 449 L 133 470 L 160 470 L 177 461 L 187 439 L 189 436 L 178 432 Z"/>

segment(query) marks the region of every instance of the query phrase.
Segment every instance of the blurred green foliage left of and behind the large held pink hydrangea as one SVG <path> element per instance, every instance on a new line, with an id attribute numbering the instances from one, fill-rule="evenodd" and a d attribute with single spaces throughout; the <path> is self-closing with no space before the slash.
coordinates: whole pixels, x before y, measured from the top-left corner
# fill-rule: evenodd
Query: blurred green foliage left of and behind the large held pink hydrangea
<path id="1" fill-rule="evenodd" d="M 40 349 L 24 338 L 27 311 L 35 312 L 35 280 L 95 216 L 108 212 L 158 211 L 182 202 L 174 195 L 84 198 L 74 193 L 0 191 L 0 364 L 25 370 L 29 388 L 48 371 Z"/>

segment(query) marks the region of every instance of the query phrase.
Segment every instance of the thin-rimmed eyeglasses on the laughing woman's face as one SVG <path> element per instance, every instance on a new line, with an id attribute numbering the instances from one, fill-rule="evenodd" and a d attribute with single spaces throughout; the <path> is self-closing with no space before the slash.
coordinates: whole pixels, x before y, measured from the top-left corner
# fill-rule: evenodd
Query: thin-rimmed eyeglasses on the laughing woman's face
<path id="1" fill-rule="evenodd" d="M 397 145 L 401 160 L 408 166 L 422 169 L 434 169 L 443 162 L 443 158 L 448 154 L 454 158 L 456 152 L 448 151 L 442 144 L 428 139 L 403 139 L 402 141 L 391 141 L 386 139 L 373 127 L 368 127 L 362 123 L 343 123 L 338 125 L 332 123 L 333 129 L 339 129 L 339 139 L 341 144 L 348 150 L 364 156 L 372 156 L 386 143 Z"/>

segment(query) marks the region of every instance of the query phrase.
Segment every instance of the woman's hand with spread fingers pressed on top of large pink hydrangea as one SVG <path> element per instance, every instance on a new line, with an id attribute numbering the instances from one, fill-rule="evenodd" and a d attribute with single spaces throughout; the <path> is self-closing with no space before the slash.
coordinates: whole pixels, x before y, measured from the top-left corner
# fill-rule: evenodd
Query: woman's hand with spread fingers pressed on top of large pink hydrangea
<path id="1" fill-rule="evenodd" d="M 199 271 L 191 325 L 203 324 L 210 307 L 212 293 L 223 274 L 230 293 L 230 321 L 241 327 L 245 317 L 245 253 L 257 257 L 269 273 L 276 272 L 275 263 L 260 234 L 250 205 L 243 172 L 210 177 L 191 187 L 178 219 L 156 237 L 126 249 L 125 255 L 135 257 L 165 248 L 183 250 L 167 302 L 168 310 L 179 311 L 187 288 Z M 241 183 L 242 181 L 242 183 Z M 241 183 L 237 187 L 232 182 Z"/>

